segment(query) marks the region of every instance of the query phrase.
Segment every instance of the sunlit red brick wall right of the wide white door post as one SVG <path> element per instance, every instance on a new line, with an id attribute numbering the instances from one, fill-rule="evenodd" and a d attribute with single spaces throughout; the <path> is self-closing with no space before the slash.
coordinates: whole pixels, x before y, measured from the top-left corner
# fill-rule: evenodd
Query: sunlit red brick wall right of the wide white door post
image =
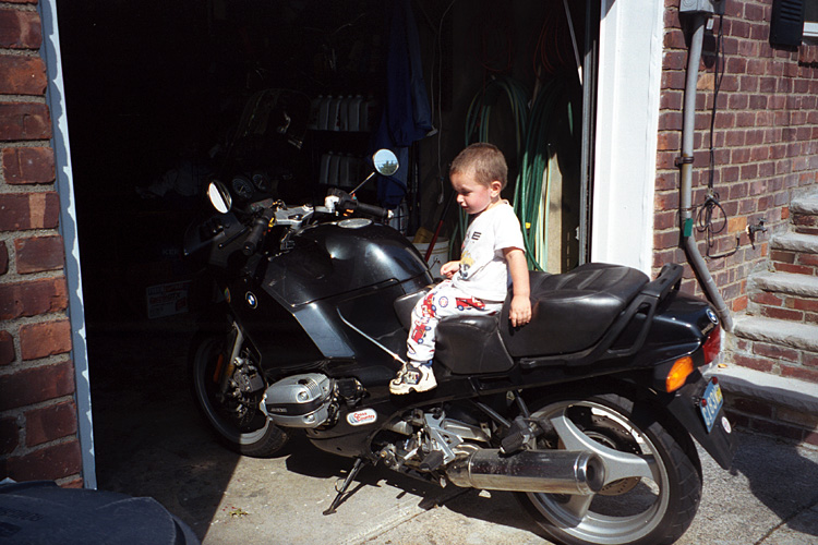
<path id="1" fill-rule="evenodd" d="M 772 48 L 769 21 L 772 0 L 729 0 L 723 19 L 724 72 L 714 120 L 714 191 L 726 218 L 714 218 L 723 229 L 712 237 L 708 259 L 717 286 L 733 312 L 747 307 L 747 276 L 765 266 L 769 237 L 786 230 L 793 195 L 818 190 L 818 46 Z M 665 35 L 662 74 L 654 263 L 685 262 L 677 247 L 679 172 L 674 161 L 681 154 L 682 101 L 687 47 L 681 29 L 677 0 L 665 0 Z M 705 202 L 708 189 L 710 121 L 717 81 L 714 45 L 719 32 L 715 17 L 707 32 L 699 73 L 697 100 L 694 198 Z M 698 208 L 697 208 L 698 211 Z M 767 233 L 755 245 L 747 226 L 763 219 Z M 701 255 L 708 253 L 703 233 L 695 231 Z M 686 291 L 700 293 L 687 270 Z"/>

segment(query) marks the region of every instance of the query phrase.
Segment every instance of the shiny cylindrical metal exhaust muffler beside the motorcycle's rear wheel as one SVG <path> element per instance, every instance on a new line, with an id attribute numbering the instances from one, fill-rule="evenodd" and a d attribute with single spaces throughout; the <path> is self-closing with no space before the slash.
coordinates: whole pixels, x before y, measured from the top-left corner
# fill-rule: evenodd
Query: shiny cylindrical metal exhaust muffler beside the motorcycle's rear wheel
<path id="1" fill-rule="evenodd" d="M 588 496 L 602 488 L 605 465 L 588 451 L 479 449 L 452 462 L 446 476 L 464 488 Z"/>

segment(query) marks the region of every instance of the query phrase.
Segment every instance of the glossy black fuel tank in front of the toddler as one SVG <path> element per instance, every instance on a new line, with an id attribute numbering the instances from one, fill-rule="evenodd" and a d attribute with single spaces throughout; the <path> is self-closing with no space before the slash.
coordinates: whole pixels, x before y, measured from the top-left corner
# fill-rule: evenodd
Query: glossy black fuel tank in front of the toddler
<path id="1" fill-rule="evenodd" d="M 400 233 L 360 218 L 310 227 L 293 242 L 292 251 L 269 261 L 263 280 L 265 290 L 290 306 L 429 274 Z"/>

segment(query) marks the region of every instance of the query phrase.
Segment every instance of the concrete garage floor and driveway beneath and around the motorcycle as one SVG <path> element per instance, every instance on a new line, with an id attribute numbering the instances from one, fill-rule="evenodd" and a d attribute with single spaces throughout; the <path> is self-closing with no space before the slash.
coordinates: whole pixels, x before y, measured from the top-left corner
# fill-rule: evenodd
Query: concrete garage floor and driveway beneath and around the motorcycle
<path id="1" fill-rule="evenodd" d="M 351 461 L 297 437 L 277 458 L 239 457 L 199 417 L 185 379 L 189 323 L 92 331 L 100 489 L 151 496 L 206 545 L 548 544 L 509 493 L 440 488 L 365 468 L 324 516 Z M 818 451 L 741 434 L 732 471 L 702 457 L 705 491 L 682 545 L 818 543 Z"/>

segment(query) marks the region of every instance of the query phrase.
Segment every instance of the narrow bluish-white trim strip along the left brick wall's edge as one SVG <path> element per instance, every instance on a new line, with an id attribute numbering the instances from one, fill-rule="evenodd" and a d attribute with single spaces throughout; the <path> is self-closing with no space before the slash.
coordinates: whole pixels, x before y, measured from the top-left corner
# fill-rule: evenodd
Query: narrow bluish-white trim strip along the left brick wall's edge
<path id="1" fill-rule="evenodd" d="M 48 71 L 46 100 L 51 112 L 57 167 L 57 192 L 60 195 L 60 234 L 65 246 L 65 281 L 69 291 L 69 317 L 71 319 L 71 342 L 74 362 L 74 384 L 79 420 L 80 449 L 82 451 L 83 482 L 86 488 L 97 487 L 94 453 L 94 425 L 91 414 L 91 380 L 88 376 L 88 353 L 85 342 L 85 306 L 83 303 L 82 271 L 80 268 L 80 245 L 76 230 L 76 207 L 74 206 L 73 173 L 71 170 L 71 147 L 69 144 L 68 116 L 65 114 L 65 90 L 62 84 L 62 59 L 60 33 L 57 24 L 57 0 L 40 0 L 43 21 L 43 55 Z"/>

